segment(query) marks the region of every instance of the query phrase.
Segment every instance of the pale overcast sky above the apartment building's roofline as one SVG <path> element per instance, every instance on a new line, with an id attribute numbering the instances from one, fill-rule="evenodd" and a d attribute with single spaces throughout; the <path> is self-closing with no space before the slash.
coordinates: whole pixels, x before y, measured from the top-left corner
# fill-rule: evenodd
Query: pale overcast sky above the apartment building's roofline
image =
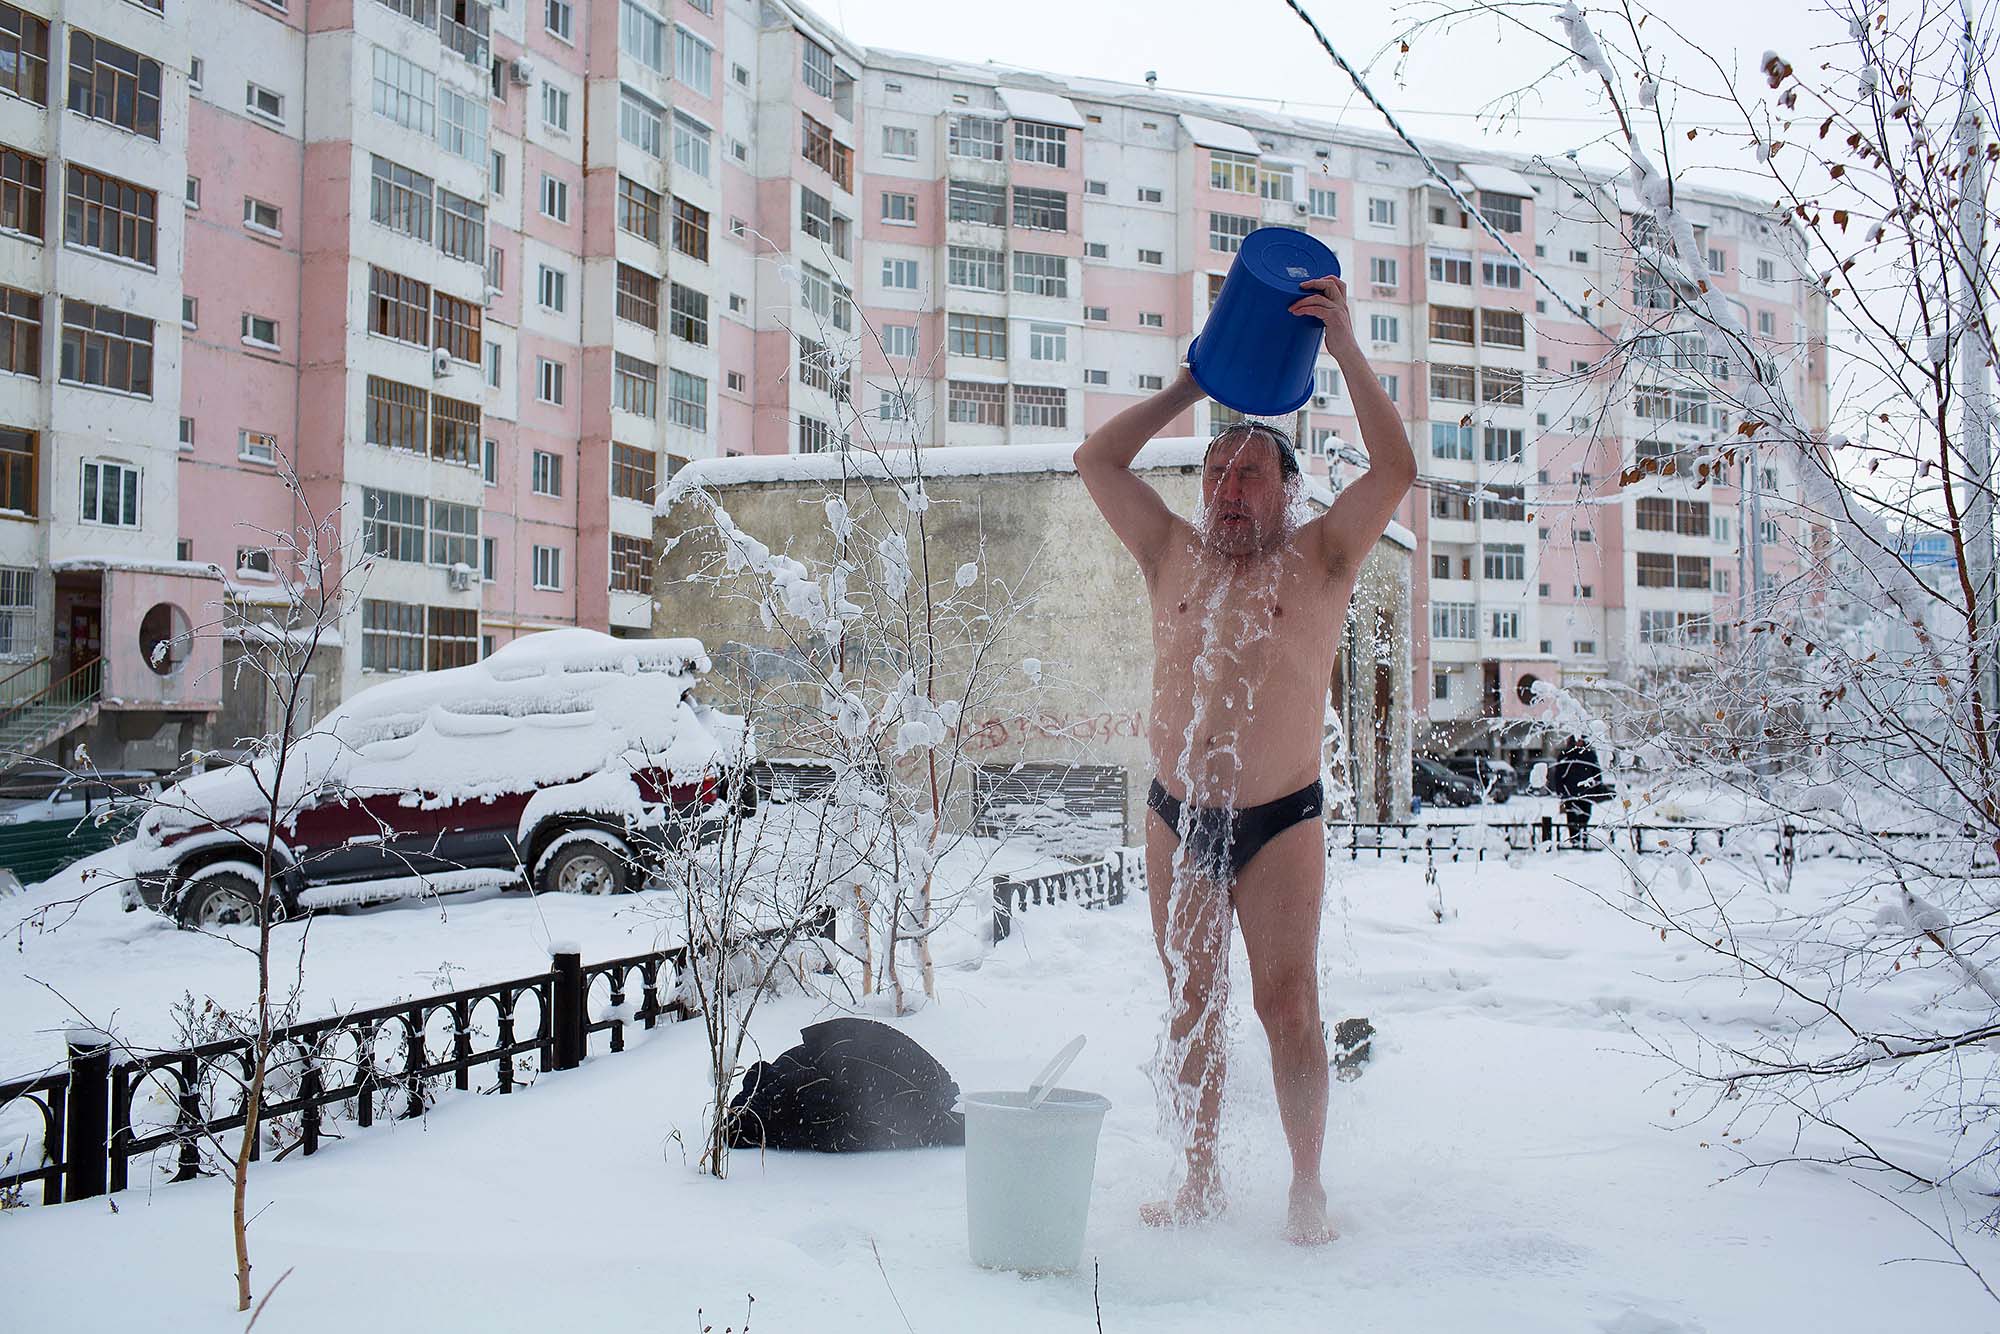
<path id="1" fill-rule="evenodd" d="M 1380 114 L 1354 94 L 1284 0 L 806 2 L 864 46 L 1134 84 L 1144 80 L 1146 70 L 1158 70 L 1162 90 L 1260 98 L 1264 106 L 1282 98 L 1284 108 L 1304 116 L 1384 128 Z M 1542 78 L 1560 52 L 1522 32 L 1520 24 L 1560 34 L 1552 4 L 1514 4 L 1508 10 L 1516 16 L 1512 24 L 1480 18 L 1450 36 L 1418 44 L 1400 84 L 1392 72 L 1396 54 L 1384 54 L 1384 46 L 1416 18 L 1416 6 L 1306 0 L 1306 10 L 1354 66 L 1366 72 L 1366 64 L 1374 62 L 1370 84 L 1418 136 L 1560 154 L 1588 144 L 1606 128 L 1602 106 L 1574 64 L 1556 78 Z M 1586 14 L 1604 24 L 1606 36 L 1620 22 L 1616 10 L 1586 4 Z M 1818 64 L 1822 58 L 1808 50 L 1812 34 L 1820 40 L 1844 36 L 1844 24 L 1830 20 L 1814 0 L 1660 0 L 1660 16 L 1740 70 L 1738 82 L 1748 80 L 1758 94 L 1764 84 L 1756 80 L 1756 68 L 1766 48 L 1804 68 L 1808 60 Z M 1718 76 L 1704 66 L 1688 70 L 1688 80 L 1712 86 Z M 1488 100 L 1524 84 L 1534 84 L 1534 92 L 1522 106 L 1522 122 L 1492 132 L 1474 116 Z M 1676 114 L 1684 124 L 1722 122 L 1714 108 L 1682 104 Z M 1724 156 L 1720 142 L 1708 146 L 1698 140 L 1680 150 L 1748 164 L 1742 150 Z M 1590 158 L 1614 162 L 1604 150 Z M 1718 178 L 1714 184 L 1730 182 Z M 1746 188 L 1750 182 L 1736 184 Z"/>

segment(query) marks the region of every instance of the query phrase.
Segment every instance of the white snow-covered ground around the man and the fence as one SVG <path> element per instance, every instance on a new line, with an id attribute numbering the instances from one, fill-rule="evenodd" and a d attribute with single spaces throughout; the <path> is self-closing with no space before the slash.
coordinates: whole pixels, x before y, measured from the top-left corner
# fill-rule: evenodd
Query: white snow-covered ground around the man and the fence
<path id="1" fill-rule="evenodd" d="M 1802 872 L 1824 894 L 1840 864 Z M 1886 1266 L 1938 1244 L 1848 1178 L 1736 1176 L 1722 1124 L 1690 1104 L 1642 1038 L 1754 1034 L 1756 994 L 1596 898 L 1604 854 L 1442 866 L 1456 916 L 1428 910 L 1422 866 L 1332 866 L 1322 992 L 1328 1020 L 1368 1016 L 1374 1060 L 1334 1084 L 1326 1174 L 1342 1240 L 1278 1238 L 1286 1166 L 1264 1040 L 1236 960 L 1224 1160 L 1232 1212 L 1162 1234 L 1138 1204 L 1170 1180 L 1146 1064 L 1162 986 L 1144 902 L 1030 910 L 988 954 L 948 950 L 934 1004 L 902 1020 L 968 1088 L 1024 1084 L 1062 1040 L 1090 1038 L 1068 1084 L 1106 1094 L 1086 1264 L 1022 1280 L 966 1258 L 962 1150 L 738 1154 L 702 1178 L 698 1026 L 550 1074 L 510 1098 L 446 1096 L 252 1174 L 260 1330 L 1744 1330 L 2000 1328 L 1962 1270 Z M 0 922 L 64 882 L 0 900 Z M 1796 902 L 1796 898 L 1794 898 Z M 586 958 L 650 948 L 642 898 L 472 896 L 374 908 L 312 926 L 308 1012 L 496 980 L 544 966 L 550 938 Z M 288 928 L 290 930 L 290 928 Z M 244 960 L 98 902 L 28 932 L 0 970 L 0 1070 L 46 1064 L 70 1022 L 60 990 L 130 1040 L 164 1036 L 182 992 L 242 996 Z M 454 970 L 456 968 L 456 970 Z M 442 974 L 450 974 L 444 978 Z M 766 1052 L 822 1016 L 762 1010 Z M 1886 1144 L 1944 1152 L 1922 1130 Z M 1770 1126 L 1766 1144 L 1786 1144 Z M 1748 1136 L 1742 1126 L 1736 1136 Z M 1758 1148 L 1750 1140 L 1744 1148 Z M 228 1188 L 138 1188 L 112 1202 L 0 1216 L 6 1324 L 22 1330 L 240 1330 Z M 1922 1208 L 1922 1202 L 1914 1202 Z M 2000 1268 L 2000 1242 L 1964 1238 Z"/>

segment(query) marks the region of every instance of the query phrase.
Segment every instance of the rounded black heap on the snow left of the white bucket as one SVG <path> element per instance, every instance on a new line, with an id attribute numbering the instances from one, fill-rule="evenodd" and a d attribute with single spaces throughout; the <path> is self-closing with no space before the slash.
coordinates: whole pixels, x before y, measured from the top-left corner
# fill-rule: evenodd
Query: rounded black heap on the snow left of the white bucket
<path id="1" fill-rule="evenodd" d="M 826 1020 L 802 1042 L 744 1072 L 730 1100 L 732 1148 L 864 1148 L 964 1144 L 958 1084 L 930 1052 L 888 1024 Z"/>

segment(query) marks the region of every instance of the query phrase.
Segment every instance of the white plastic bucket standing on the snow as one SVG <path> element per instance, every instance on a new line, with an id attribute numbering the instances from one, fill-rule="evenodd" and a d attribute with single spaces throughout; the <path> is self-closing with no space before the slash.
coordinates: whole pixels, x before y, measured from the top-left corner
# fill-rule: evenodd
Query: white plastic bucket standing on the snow
<path id="1" fill-rule="evenodd" d="M 1110 1100 L 1054 1088 L 964 1094 L 966 1236 L 972 1262 L 994 1270 L 1060 1272 L 1084 1258 L 1098 1130 Z"/>

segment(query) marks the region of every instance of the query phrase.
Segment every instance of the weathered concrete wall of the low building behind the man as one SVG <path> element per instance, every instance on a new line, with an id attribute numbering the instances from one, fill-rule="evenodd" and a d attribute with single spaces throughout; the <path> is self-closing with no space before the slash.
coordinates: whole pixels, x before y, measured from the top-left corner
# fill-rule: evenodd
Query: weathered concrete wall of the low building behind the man
<path id="1" fill-rule="evenodd" d="M 836 482 L 732 482 L 712 464 L 702 464 L 702 472 L 716 482 L 708 494 L 742 532 L 814 572 L 824 570 L 832 538 L 822 506 Z M 1186 514 L 1194 508 L 1198 468 L 1150 468 L 1144 476 L 1174 510 Z M 998 612 L 1010 600 L 1020 604 L 986 658 L 992 666 L 974 678 L 972 700 L 960 720 L 966 760 L 1120 766 L 1126 770 L 1126 838 L 1136 838 L 1152 776 L 1146 746 L 1152 632 L 1146 588 L 1132 558 L 1068 470 L 942 476 L 930 478 L 926 490 L 930 570 L 938 596 L 954 592 L 952 576 L 960 564 L 978 562 L 980 580 L 970 596 L 982 610 Z M 896 488 L 884 480 L 850 480 L 848 504 L 862 516 L 864 528 L 870 526 L 868 512 L 902 514 Z M 880 532 L 880 518 L 872 526 Z M 860 548 L 872 552 L 874 536 Z M 718 678 L 732 678 L 742 668 L 742 646 L 786 648 L 782 632 L 762 626 L 750 576 L 728 576 L 720 588 L 690 580 L 696 572 L 714 570 L 718 552 L 710 512 L 700 498 L 682 498 L 660 516 L 654 550 L 656 634 L 700 638 L 716 660 Z M 1014 590 L 1012 596 L 1006 590 Z M 1040 688 L 1020 666 L 1026 658 L 1042 664 Z M 1376 662 L 1386 668 L 1380 674 L 1380 706 L 1374 698 Z M 1342 664 L 1336 680 L 1342 682 L 1342 712 L 1356 748 L 1358 818 L 1404 818 L 1410 808 L 1406 546 L 1384 538 L 1364 564 Z M 726 690 L 722 680 L 718 688 Z M 940 682 L 940 698 L 944 690 L 956 694 L 956 682 Z M 768 758 L 796 754 L 782 738 L 766 734 L 762 744 Z M 964 804 L 956 816 L 966 818 Z M 1342 810 L 1340 818 L 1356 816 Z"/>

